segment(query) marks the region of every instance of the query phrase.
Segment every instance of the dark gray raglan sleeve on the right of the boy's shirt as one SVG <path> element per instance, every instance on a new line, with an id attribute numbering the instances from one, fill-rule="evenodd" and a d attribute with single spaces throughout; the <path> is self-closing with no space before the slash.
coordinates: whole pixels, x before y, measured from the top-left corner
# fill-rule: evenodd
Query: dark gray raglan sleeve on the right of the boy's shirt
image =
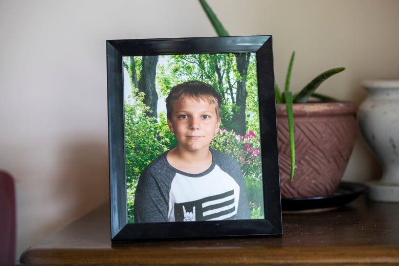
<path id="1" fill-rule="evenodd" d="M 251 219 L 247 192 L 240 165 L 233 157 L 220 151 L 212 150 L 212 156 L 214 156 L 215 163 L 219 165 L 220 169 L 230 174 L 240 187 L 236 219 Z"/>

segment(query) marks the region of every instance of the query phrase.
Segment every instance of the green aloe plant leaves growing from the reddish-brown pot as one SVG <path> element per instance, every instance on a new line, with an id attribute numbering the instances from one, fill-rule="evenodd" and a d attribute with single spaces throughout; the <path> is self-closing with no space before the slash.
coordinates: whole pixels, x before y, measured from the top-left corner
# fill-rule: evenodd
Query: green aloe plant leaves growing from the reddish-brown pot
<path id="1" fill-rule="evenodd" d="M 203 7 L 205 13 L 207 14 L 214 30 L 216 31 L 218 36 L 229 36 L 227 30 L 220 23 L 219 19 L 212 11 L 212 9 L 207 4 L 206 0 L 198 0 L 200 1 L 201 6 Z M 289 67 L 287 70 L 287 74 L 285 77 L 285 86 L 284 91 L 281 92 L 280 88 L 275 84 L 275 97 L 276 103 L 285 103 L 287 110 L 287 119 L 288 119 L 288 127 L 289 127 L 289 136 L 290 136 L 290 153 L 291 153 L 291 180 L 294 178 L 295 172 L 295 140 L 294 140 L 294 113 L 293 113 L 293 104 L 294 103 L 306 103 L 309 98 L 318 98 L 321 101 L 336 101 L 334 98 L 315 93 L 316 89 L 329 77 L 338 74 L 345 70 L 345 68 L 334 68 L 327 70 L 321 74 L 319 74 L 316 78 L 314 78 L 311 82 L 309 82 L 306 86 L 300 90 L 298 94 L 293 94 L 290 91 L 290 82 L 291 82 L 291 73 L 294 64 L 295 51 L 291 55 Z"/>

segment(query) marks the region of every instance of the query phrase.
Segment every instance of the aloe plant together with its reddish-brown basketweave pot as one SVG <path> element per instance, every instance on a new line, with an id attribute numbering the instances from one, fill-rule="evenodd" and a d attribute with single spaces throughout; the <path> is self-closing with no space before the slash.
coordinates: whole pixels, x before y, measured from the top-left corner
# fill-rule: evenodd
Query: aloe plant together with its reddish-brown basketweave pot
<path id="1" fill-rule="evenodd" d="M 229 36 L 206 0 L 199 1 L 217 34 Z M 356 139 L 357 106 L 315 93 L 322 82 L 345 68 L 327 70 L 293 94 L 294 58 L 295 52 L 284 90 L 275 85 L 281 196 L 331 195 L 339 186 Z M 309 101 L 311 97 L 317 101 Z"/>

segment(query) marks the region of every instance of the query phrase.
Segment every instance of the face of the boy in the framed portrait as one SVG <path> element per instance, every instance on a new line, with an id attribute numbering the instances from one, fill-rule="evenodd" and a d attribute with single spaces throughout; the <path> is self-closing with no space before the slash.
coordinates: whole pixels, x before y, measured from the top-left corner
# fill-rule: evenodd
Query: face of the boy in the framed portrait
<path id="1" fill-rule="evenodd" d="M 172 105 L 168 125 L 178 147 L 191 152 L 208 150 L 220 125 L 215 105 L 191 98 L 175 100 Z"/>

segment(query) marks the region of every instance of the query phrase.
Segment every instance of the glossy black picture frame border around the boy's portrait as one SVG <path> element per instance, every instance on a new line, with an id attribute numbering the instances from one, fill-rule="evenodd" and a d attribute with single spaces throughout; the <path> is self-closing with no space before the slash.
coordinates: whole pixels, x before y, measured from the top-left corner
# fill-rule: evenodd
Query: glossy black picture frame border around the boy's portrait
<path id="1" fill-rule="evenodd" d="M 128 223 L 124 132 L 123 57 L 255 53 L 259 100 L 264 218 Z M 281 235 L 272 36 L 229 36 L 106 41 L 111 240 Z"/>

